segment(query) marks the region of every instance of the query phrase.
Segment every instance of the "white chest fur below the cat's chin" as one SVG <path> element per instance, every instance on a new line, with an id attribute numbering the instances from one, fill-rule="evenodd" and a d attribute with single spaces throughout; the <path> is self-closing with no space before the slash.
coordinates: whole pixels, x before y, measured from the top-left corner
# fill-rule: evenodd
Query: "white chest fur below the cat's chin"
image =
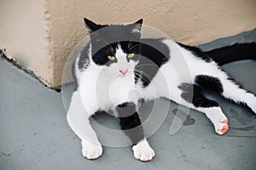
<path id="1" fill-rule="evenodd" d="M 105 69 L 108 68 L 90 65 L 81 74 L 79 91 L 88 113 L 99 106 L 102 111 L 108 111 L 125 101 L 137 103 L 139 98 L 139 95 L 134 95 L 137 90 L 133 72 L 110 75 Z"/>

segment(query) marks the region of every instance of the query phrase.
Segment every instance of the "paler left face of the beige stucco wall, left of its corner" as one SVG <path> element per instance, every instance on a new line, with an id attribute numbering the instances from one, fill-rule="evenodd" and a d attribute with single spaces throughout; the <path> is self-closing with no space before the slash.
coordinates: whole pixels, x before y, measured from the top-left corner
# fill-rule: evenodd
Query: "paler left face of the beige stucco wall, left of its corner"
<path id="1" fill-rule="evenodd" d="M 53 63 L 46 50 L 44 2 L 0 1 L 0 48 L 33 71 L 43 82 L 53 82 Z"/>

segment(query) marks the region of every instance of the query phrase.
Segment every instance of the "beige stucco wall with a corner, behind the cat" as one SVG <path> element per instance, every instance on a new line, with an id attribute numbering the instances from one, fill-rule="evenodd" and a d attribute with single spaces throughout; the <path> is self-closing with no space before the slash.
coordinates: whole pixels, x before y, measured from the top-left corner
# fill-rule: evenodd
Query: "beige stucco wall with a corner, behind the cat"
<path id="1" fill-rule="evenodd" d="M 255 0 L 1 0 L 0 5 L 0 48 L 53 87 L 61 83 L 68 54 L 87 34 L 84 17 L 101 24 L 143 18 L 144 24 L 190 45 L 256 27 Z"/>

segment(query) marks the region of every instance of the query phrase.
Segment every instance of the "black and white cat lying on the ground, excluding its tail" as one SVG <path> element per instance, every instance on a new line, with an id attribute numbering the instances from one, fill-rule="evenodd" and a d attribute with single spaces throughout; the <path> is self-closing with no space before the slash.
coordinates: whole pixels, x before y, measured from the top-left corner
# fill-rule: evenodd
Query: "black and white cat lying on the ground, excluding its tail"
<path id="1" fill-rule="evenodd" d="M 163 97 L 201 111 L 218 134 L 227 132 L 228 118 L 217 102 L 202 94 L 202 88 L 246 104 L 256 113 L 256 97 L 232 81 L 200 49 L 167 38 L 141 38 L 143 20 L 126 26 L 101 26 L 87 19 L 84 22 L 90 29 L 90 43 L 74 61 L 73 76 L 78 87 L 73 92 L 67 121 L 82 139 L 86 158 L 102 156 L 102 144 L 90 126 L 90 116 L 96 111 L 110 110 L 119 117 L 121 129 L 130 137 L 137 160 L 150 161 L 154 157 L 137 111 L 141 99 Z M 108 31 L 101 33 L 106 28 Z M 183 54 L 184 63 L 178 53 Z M 185 65 L 189 76 L 177 73 Z M 140 95 L 131 95 L 134 89 Z"/>

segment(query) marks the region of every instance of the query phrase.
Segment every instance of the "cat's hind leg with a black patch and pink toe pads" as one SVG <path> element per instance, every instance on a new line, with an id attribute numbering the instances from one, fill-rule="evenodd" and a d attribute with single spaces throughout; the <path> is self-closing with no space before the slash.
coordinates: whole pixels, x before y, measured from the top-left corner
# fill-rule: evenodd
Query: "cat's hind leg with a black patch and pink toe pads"
<path id="1" fill-rule="evenodd" d="M 169 87 L 168 92 L 161 92 L 160 96 L 171 99 L 179 105 L 205 113 L 212 122 L 216 133 L 224 134 L 228 131 L 228 118 L 224 115 L 216 101 L 207 99 L 202 94 L 201 88 L 198 85 L 183 82 L 177 86 Z"/>

